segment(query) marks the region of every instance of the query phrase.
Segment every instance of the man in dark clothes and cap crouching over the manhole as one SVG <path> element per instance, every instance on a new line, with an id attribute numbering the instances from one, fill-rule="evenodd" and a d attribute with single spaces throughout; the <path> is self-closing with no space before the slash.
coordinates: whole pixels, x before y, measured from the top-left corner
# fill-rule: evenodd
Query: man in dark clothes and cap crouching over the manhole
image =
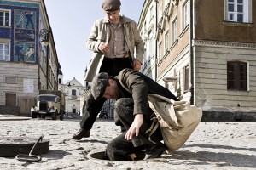
<path id="1" fill-rule="evenodd" d="M 167 150 L 166 145 L 160 142 L 163 139 L 160 127 L 153 134 L 146 133 L 153 123 L 151 118 L 155 117 L 148 105 L 148 94 L 178 101 L 167 88 L 140 72 L 124 69 L 116 77 L 109 77 L 105 72 L 97 74 L 92 80 L 91 93 L 94 99 L 118 99 L 115 116 L 119 117 L 127 130 L 109 142 L 106 149 L 109 160 L 131 161 L 129 155 L 142 150 L 146 150 L 143 159 L 147 160 Z"/>

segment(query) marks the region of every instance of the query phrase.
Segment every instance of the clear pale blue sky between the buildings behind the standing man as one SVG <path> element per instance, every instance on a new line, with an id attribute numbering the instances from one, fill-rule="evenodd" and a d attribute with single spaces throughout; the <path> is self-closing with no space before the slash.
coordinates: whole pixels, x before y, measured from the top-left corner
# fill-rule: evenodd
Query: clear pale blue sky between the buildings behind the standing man
<path id="1" fill-rule="evenodd" d="M 93 23 L 105 17 L 102 0 L 44 0 L 64 82 L 75 77 L 84 85 L 92 52 L 85 47 Z M 121 0 L 121 13 L 138 22 L 144 0 Z"/>

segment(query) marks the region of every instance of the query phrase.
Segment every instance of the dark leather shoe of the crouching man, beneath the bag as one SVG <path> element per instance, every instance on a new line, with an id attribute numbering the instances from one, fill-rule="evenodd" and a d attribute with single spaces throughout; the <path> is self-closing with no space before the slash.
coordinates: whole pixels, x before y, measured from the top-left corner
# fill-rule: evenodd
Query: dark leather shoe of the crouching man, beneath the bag
<path id="1" fill-rule="evenodd" d="M 153 144 L 153 145 L 150 145 L 146 149 L 146 156 L 144 157 L 144 160 L 152 159 L 152 158 L 155 158 L 155 157 L 159 157 L 166 150 L 167 150 L 166 145 L 162 144 L 160 142 L 156 143 L 156 144 Z"/>

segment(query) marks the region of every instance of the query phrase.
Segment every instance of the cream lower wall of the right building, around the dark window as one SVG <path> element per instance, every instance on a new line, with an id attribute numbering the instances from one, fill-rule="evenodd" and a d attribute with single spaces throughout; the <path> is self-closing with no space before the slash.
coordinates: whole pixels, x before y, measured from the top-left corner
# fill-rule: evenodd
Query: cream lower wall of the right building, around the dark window
<path id="1" fill-rule="evenodd" d="M 195 42 L 196 105 L 211 111 L 255 111 L 255 55 L 256 44 Z M 227 90 L 227 61 L 230 60 L 247 62 L 247 91 Z"/>

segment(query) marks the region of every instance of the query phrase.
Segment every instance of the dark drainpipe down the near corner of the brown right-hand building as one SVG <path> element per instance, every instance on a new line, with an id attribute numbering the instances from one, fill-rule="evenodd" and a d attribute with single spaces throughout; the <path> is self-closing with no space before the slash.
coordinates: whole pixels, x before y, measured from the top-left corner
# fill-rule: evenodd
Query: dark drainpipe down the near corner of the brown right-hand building
<path id="1" fill-rule="evenodd" d="M 190 97 L 190 104 L 191 105 L 194 105 L 195 101 L 194 101 L 194 97 L 195 97 L 195 79 L 194 79 L 194 59 L 195 59 L 195 56 L 194 56 L 194 50 L 193 50 L 193 45 L 192 45 L 192 42 L 193 42 L 193 26 L 194 26 L 194 23 L 193 23 L 193 19 L 194 19 L 194 15 L 193 15 L 193 1 L 194 0 L 190 0 L 190 26 L 189 26 L 189 29 L 190 29 L 190 80 L 191 80 L 191 88 L 190 88 L 190 93 L 191 93 L 191 97 Z"/>

